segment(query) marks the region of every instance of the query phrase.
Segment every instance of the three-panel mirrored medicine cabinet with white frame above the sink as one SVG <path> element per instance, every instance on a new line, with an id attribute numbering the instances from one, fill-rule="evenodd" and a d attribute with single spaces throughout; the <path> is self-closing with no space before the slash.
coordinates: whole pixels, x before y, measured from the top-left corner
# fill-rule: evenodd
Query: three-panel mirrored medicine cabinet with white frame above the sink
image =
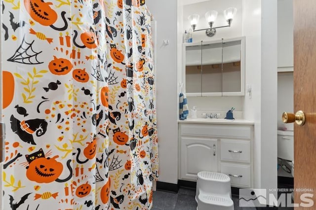
<path id="1" fill-rule="evenodd" d="M 244 96 L 245 38 L 184 43 L 187 96 Z"/>

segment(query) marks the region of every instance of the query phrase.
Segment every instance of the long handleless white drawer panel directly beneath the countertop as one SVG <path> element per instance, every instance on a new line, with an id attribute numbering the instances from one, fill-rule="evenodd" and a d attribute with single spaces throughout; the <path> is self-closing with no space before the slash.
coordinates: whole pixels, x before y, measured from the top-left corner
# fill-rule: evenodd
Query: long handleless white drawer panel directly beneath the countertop
<path id="1" fill-rule="evenodd" d="M 182 124 L 181 136 L 251 139 L 251 128 L 242 125 Z"/>

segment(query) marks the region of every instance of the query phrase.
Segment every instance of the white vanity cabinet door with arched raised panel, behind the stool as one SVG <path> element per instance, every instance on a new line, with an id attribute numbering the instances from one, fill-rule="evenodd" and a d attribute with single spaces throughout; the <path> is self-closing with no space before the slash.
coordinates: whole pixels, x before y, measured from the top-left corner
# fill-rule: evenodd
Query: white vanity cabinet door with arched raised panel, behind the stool
<path id="1" fill-rule="evenodd" d="M 217 139 L 181 137 L 181 178 L 197 180 L 200 171 L 218 171 Z"/>

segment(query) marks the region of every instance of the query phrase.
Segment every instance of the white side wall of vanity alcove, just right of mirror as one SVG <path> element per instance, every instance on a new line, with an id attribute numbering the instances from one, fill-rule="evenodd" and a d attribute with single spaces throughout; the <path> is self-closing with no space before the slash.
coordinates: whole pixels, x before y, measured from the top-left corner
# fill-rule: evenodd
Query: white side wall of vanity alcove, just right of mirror
<path id="1" fill-rule="evenodd" d="M 244 98 L 244 118 L 254 121 L 254 188 L 261 180 L 261 0 L 242 0 L 242 35 L 246 39 L 246 86 L 251 98 Z"/>

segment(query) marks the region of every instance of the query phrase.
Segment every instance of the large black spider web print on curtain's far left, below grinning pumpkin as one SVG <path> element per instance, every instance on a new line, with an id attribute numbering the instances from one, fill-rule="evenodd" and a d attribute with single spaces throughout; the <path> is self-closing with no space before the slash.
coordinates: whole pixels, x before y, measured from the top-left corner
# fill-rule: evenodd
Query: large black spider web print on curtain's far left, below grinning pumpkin
<path id="1" fill-rule="evenodd" d="M 25 41 L 25 36 L 23 37 L 22 43 L 19 48 L 15 51 L 14 55 L 7 61 L 16 62 L 20 64 L 42 64 L 37 58 L 37 56 L 42 52 L 35 52 L 32 48 L 34 40 L 31 43 Z"/>

